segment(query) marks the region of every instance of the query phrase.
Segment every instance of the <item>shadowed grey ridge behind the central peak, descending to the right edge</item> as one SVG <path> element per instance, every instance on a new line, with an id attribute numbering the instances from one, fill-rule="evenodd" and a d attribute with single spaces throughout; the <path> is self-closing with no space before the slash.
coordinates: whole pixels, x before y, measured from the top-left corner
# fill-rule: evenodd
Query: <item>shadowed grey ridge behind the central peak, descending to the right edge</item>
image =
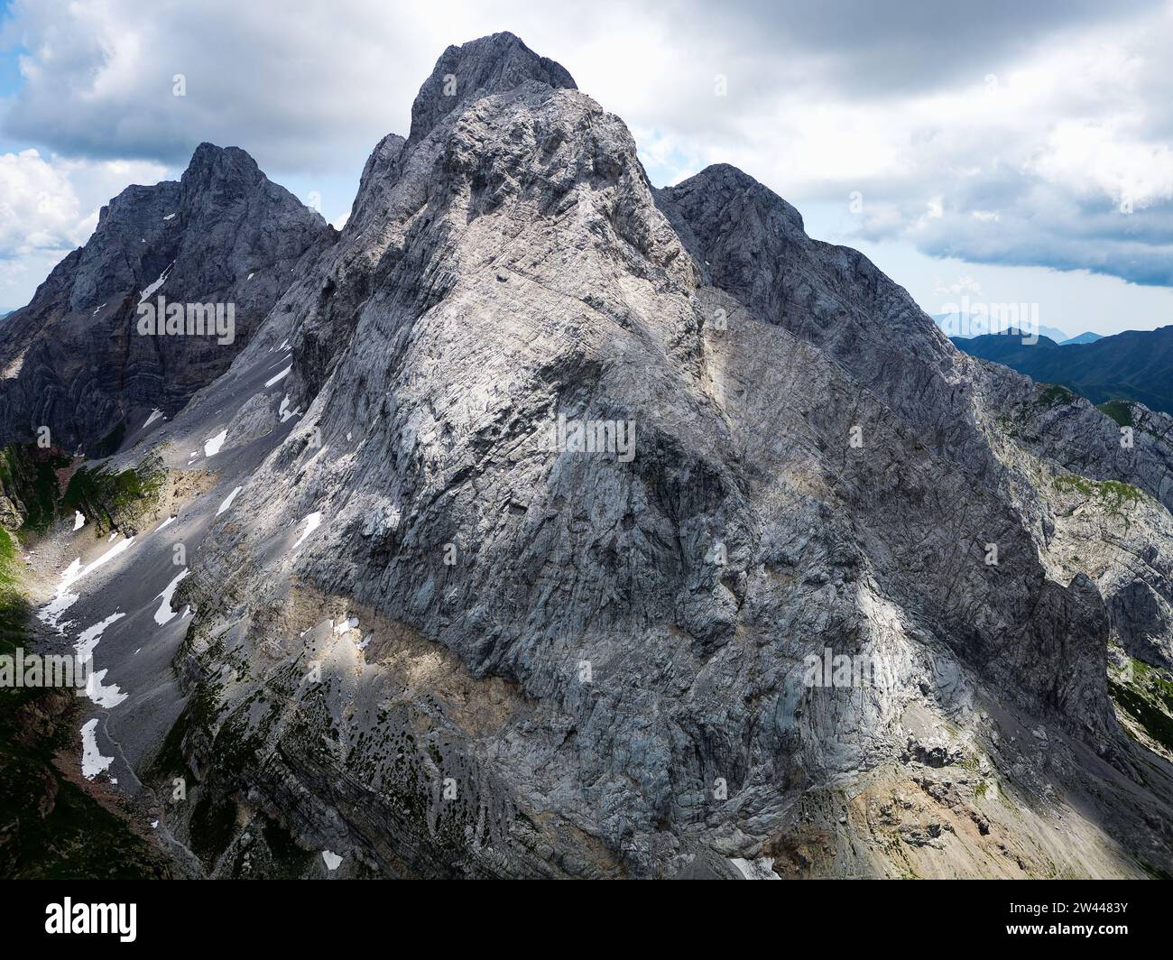
<path id="1" fill-rule="evenodd" d="M 1057 522 L 1071 526 L 1057 520 L 1055 505 L 1047 502 L 1056 491 L 1036 489 L 1036 455 L 1050 465 L 1049 488 L 1062 482 L 1055 475 L 1064 471 L 1099 481 L 1127 479 L 1173 507 L 1173 420 L 1166 414 L 1134 405 L 1135 430 L 1121 442 L 1118 425 L 1091 404 L 949 349 L 903 290 L 855 251 L 807 238 L 789 204 L 734 168 L 708 168 L 659 191 L 657 201 L 716 285 L 834 356 L 923 441 L 1015 501 L 1036 549 L 1053 549 Z M 1001 441 L 1008 432 L 1013 445 Z M 1164 526 L 1167 511 L 1150 512 L 1144 500 L 1132 513 Z M 1150 647 L 1173 638 L 1168 564 L 1158 559 L 1166 534 L 1146 540 L 1135 522 L 1131 529 L 1121 522 L 1116 532 L 1098 530 L 1090 539 L 1085 530 L 1083 556 L 1071 552 L 1083 563 L 1069 564 L 1056 579 L 1070 582 L 1079 569 L 1094 572 L 1116 634 L 1134 656 L 1154 662 Z M 1152 533 L 1147 525 L 1144 532 Z M 1113 550 L 1111 562 L 1094 546 L 1120 539 L 1130 542 Z M 1148 560 L 1128 562 L 1137 555 Z M 1127 641 L 1140 635 L 1150 640 Z M 1169 664 L 1165 656 L 1160 662 Z"/>

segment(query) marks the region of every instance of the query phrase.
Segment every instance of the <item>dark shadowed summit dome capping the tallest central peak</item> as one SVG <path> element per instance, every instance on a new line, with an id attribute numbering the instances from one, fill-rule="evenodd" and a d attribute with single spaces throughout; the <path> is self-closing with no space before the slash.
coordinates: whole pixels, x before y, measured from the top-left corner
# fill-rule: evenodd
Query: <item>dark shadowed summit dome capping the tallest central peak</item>
<path id="1" fill-rule="evenodd" d="M 448 47 L 412 103 L 408 138 L 418 141 L 427 136 L 441 117 L 477 96 L 511 90 L 530 80 L 578 89 L 562 65 L 538 56 L 511 33 L 495 33 Z"/>

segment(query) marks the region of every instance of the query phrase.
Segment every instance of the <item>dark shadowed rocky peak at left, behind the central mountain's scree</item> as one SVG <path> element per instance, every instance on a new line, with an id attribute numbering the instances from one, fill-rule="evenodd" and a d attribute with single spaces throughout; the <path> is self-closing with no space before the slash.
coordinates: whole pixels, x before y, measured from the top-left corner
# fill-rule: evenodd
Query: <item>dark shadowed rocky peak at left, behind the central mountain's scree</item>
<path id="1" fill-rule="evenodd" d="M 0 444 L 48 426 L 94 452 L 130 415 L 174 413 L 228 370 L 332 228 L 235 147 L 198 147 L 181 182 L 129 187 L 94 236 L 5 320 Z M 144 291 L 149 295 L 144 297 Z M 232 305 L 235 336 L 141 336 L 141 300 Z M 184 311 L 187 313 L 187 311 Z"/>

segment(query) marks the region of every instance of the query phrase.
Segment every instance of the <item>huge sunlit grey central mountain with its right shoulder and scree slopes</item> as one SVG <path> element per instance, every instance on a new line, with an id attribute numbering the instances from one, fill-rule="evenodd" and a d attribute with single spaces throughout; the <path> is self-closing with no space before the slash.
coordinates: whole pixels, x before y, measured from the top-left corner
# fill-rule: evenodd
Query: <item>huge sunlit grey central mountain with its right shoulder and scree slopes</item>
<path id="1" fill-rule="evenodd" d="M 511 34 L 311 232 L 29 561 L 176 871 L 1173 873 L 1173 419 L 1123 446 L 733 167 L 653 189 Z"/>

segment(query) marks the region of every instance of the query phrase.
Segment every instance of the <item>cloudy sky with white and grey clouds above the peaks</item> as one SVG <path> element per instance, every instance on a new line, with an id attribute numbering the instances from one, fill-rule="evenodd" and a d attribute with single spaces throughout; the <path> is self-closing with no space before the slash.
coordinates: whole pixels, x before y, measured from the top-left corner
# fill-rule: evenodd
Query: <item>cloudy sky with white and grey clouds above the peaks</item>
<path id="1" fill-rule="evenodd" d="M 734 163 L 930 313 L 1173 324 L 1171 0 L 0 0 L 0 311 L 201 141 L 340 223 L 443 48 L 503 29 L 657 185 Z"/>

